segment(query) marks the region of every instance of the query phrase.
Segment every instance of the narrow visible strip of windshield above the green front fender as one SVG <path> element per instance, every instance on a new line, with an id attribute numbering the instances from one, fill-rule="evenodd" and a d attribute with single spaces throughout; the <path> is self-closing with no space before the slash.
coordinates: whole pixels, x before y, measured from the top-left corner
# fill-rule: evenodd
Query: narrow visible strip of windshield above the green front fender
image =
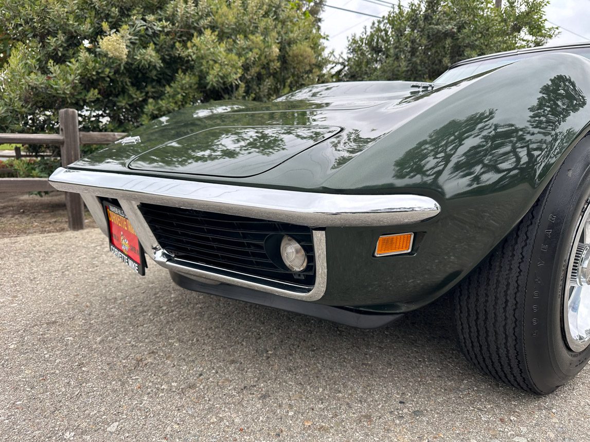
<path id="1" fill-rule="evenodd" d="M 489 60 L 474 61 L 468 64 L 462 64 L 455 68 L 444 72 L 440 77 L 432 83 L 449 84 L 455 81 L 463 80 L 463 78 L 471 77 L 472 75 L 481 74 L 495 68 L 513 63 L 515 61 L 523 60 L 523 58 L 536 57 L 545 52 L 568 52 L 569 54 L 578 54 L 582 57 L 590 58 L 590 48 L 559 48 L 550 51 L 528 52 L 525 54 L 506 55 L 505 57 L 491 58 Z"/>

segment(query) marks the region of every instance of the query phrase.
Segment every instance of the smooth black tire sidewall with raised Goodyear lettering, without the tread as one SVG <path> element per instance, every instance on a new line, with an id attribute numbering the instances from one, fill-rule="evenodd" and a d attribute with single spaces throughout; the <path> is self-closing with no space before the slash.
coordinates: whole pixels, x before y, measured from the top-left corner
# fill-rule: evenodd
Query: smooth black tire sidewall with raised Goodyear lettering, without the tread
<path id="1" fill-rule="evenodd" d="M 590 347 L 581 352 L 569 349 L 563 328 L 568 263 L 578 219 L 589 198 L 587 136 L 574 147 L 544 192 L 528 263 L 523 338 L 527 371 L 540 393 L 567 382 L 590 359 Z"/>

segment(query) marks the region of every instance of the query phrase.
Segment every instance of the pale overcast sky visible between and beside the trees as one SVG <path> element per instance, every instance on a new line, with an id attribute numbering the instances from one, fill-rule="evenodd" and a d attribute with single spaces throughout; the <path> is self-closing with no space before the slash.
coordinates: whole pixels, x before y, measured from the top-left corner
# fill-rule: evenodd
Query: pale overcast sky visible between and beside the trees
<path id="1" fill-rule="evenodd" d="M 386 14 L 391 8 L 385 3 L 397 3 L 397 0 L 327 0 L 326 2 L 330 6 L 378 15 L 379 17 Z M 402 0 L 402 5 L 407 3 L 408 0 Z M 560 27 L 560 34 L 549 44 L 568 44 L 590 40 L 590 0 L 550 0 L 546 9 L 546 18 L 553 22 L 553 26 L 559 25 Z M 335 50 L 336 53 L 346 50 L 346 37 L 358 34 L 363 27 L 370 27 L 371 22 L 376 20 L 376 18 L 366 15 L 339 11 L 329 7 L 324 9 L 322 19 L 322 32 L 328 35 L 327 48 Z"/>

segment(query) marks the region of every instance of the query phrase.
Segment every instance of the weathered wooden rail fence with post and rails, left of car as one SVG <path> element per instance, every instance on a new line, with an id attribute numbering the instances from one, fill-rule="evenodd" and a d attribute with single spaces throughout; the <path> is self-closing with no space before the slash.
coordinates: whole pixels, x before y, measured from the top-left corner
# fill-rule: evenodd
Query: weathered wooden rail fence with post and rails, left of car
<path id="1" fill-rule="evenodd" d="M 60 146 L 61 165 L 80 159 L 81 144 L 110 144 L 126 136 L 122 132 L 80 132 L 78 111 L 60 110 L 60 134 L 1 134 L 0 144 L 53 144 Z M 42 192 L 55 190 L 47 178 L 0 178 L 1 192 Z M 78 193 L 64 192 L 70 230 L 84 229 L 84 203 Z"/>

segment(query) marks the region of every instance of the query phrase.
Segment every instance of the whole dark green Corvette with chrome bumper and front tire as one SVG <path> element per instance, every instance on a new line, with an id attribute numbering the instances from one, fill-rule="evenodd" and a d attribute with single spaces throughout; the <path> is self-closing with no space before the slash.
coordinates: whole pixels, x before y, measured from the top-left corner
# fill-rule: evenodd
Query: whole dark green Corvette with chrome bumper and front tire
<path id="1" fill-rule="evenodd" d="M 467 358 L 546 394 L 590 358 L 589 57 L 197 105 L 50 182 L 187 289 L 363 328 L 451 292 Z"/>

